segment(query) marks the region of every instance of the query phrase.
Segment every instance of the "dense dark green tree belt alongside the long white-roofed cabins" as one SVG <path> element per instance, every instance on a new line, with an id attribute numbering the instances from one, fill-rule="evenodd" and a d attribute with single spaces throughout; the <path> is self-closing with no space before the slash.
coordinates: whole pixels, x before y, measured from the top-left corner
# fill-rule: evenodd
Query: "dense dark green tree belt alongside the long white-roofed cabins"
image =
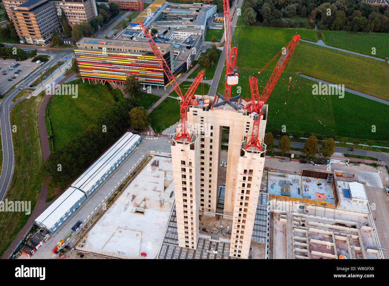
<path id="1" fill-rule="evenodd" d="M 131 126 L 133 98 L 123 98 L 105 111 L 95 123 L 78 133 L 65 146 L 50 154 L 43 170 L 55 187 L 66 188 Z"/>

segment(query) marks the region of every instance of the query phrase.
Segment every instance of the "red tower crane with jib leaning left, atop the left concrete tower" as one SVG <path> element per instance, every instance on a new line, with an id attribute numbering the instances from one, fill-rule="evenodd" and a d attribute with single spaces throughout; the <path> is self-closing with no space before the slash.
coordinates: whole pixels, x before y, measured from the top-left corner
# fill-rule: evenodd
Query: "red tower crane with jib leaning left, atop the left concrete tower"
<path id="1" fill-rule="evenodd" d="M 166 77 L 168 78 L 170 84 L 173 86 L 175 92 L 179 95 L 181 130 L 180 132 L 177 133 L 175 140 L 187 139 L 189 142 L 191 142 L 191 134 L 189 134 L 187 130 L 187 108 L 190 106 L 204 104 L 204 101 L 201 102 L 201 100 L 196 100 L 194 93 L 196 91 L 196 88 L 198 87 L 198 84 L 203 79 L 205 72 L 201 70 L 196 76 L 196 78 L 194 79 L 191 86 L 186 91 L 185 95 L 182 95 L 178 82 L 176 81 L 172 71 L 170 70 L 168 64 L 163 58 L 161 52 L 159 51 L 158 46 L 152 39 L 149 30 L 143 25 L 142 22 L 139 22 L 139 25 L 142 28 L 145 34 L 145 38 L 149 43 L 149 46 L 151 47 L 154 55 L 156 56 L 157 60 L 161 64 L 163 68 L 163 72 L 166 74 Z"/>

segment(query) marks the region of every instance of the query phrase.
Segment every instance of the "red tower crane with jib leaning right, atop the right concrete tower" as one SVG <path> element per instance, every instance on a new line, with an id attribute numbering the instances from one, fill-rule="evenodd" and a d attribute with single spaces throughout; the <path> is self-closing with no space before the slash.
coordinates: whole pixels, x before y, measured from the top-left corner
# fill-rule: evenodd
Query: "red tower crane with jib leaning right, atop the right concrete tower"
<path id="1" fill-rule="evenodd" d="M 258 133 L 259 133 L 259 121 L 261 116 L 263 115 L 262 107 L 265 102 L 268 100 L 270 93 L 272 93 L 275 84 L 282 71 L 284 70 L 289 58 L 291 57 L 294 48 L 296 47 L 298 41 L 300 40 L 300 35 L 295 35 L 293 39 L 291 39 L 285 47 L 281 49 L 281 51 L 274 56 L 274 58 L 269 61 L 265 67 L 263 67 L 259 72 L 261 73 L 275 58 L 277 58 L 280 54 L 281 57 L 275 65 L 272 75 L 263 89 L 261 95 L 259 95 L 258 91 L 258 79 L 256 77 L 250 77 L 250 91 L 251 91 L 251 106 L 248 109 L 251 111 L 251 118 L 254 120 L 254 124 L 252 127 L 252 135 L 249 140 L 247 140 L 245 149 L 249 147 L 258 148 L 262 152 L 262 142 L 259 142 Z"/>

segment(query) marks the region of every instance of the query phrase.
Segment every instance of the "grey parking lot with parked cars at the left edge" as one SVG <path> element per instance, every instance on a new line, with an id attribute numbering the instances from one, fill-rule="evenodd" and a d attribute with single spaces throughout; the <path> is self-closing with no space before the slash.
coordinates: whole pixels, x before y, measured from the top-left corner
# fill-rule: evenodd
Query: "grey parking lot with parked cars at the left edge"
<path id="1" fill-rule="evenodd" d="M 19 67 L 14 68 L 13 63 L 19 63 L 20 65 Z M 14 69 L 8 70 L 10 67 Z M 23 76 L 30 74 L 37 67 L 39 67 L 39 64 L 31 62 L 31 59 L 16 61 L 15 59 L 4 60 L 3 58 L 0 58 L 0 94 L 4 94 L 12 86 L 23 80 Z M 21 70 L 21 72 L 18 72 L 18 70 Z M 3 72 L 7 75 L 4 75 Z M 18 74 L 15 74 L 15 72 L 18 72 Z M 12 79 L 11 77 L 16 77 L 16 79 Z M 12 79 L 12 81 L 9 81 L 8 79 Z"/>

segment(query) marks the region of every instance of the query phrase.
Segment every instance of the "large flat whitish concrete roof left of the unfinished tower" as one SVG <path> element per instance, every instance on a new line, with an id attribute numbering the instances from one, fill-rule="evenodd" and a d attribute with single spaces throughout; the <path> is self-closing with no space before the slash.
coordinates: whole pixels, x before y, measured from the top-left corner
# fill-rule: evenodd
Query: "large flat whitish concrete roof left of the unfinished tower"
<path id="1" fill-rule="evenodd" d="M 151 166 L 154 160 L 159 160 L 158 167 Z M 156 258 L 174 204 L 169 170 L 172 159 L 154 156 L 89 231 L 84 250 L 121 258 Z M 144 214 L 135 213 L 136 209 Z M 140 255 L 143 252 L 146 257 Z"/>

